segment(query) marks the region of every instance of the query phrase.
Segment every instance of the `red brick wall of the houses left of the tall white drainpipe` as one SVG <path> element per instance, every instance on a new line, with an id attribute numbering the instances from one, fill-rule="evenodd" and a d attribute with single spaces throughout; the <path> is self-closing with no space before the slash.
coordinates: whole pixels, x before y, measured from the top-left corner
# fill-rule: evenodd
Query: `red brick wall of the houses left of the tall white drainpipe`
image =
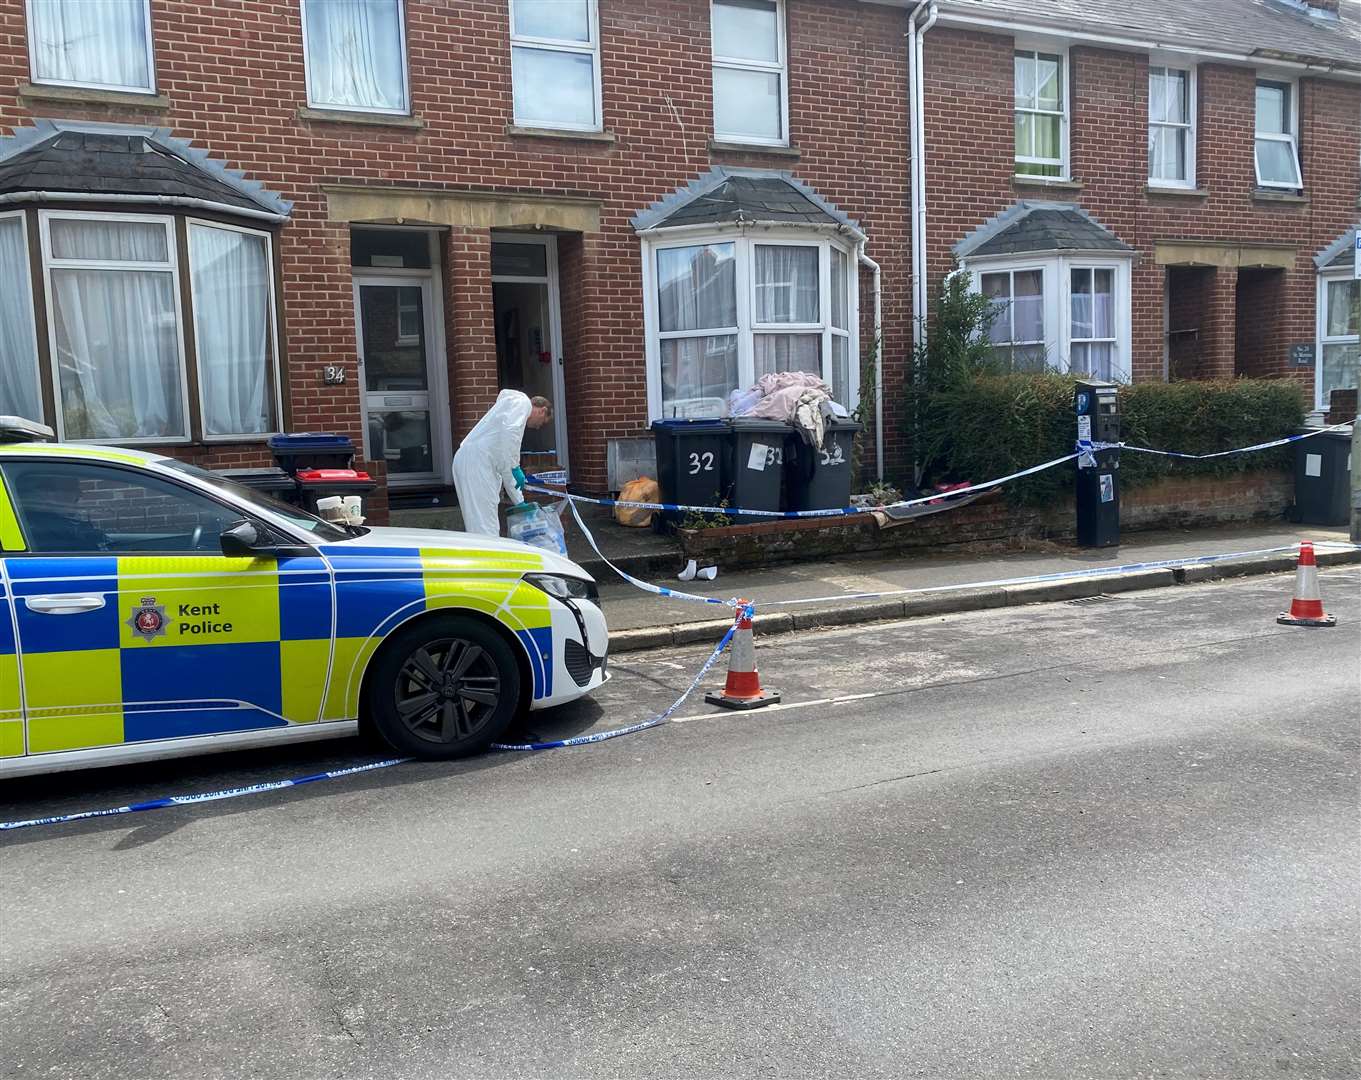
<path id="1" fill-rule="evenodd" d="M 603 486 L 606 438 L 646 422 L 638 209 L 716 163 L 788 169 L 862 222 L 885 272 L 885 355 L 901 379 L 908 325 L 906 71 L 901 11 L 788 0 L 789 125 L 798 158 L 710 151 L 708 0 L 600 0 L 604 128 L 612 144 L 525 137 L 512 122 L 505 0 L 407 0 L 412 110 L 425 126 L 299 120 L 306 105 L 297 0 L 154 0 L 157 86 L 169 107 L 29 105 L 23 0 L 0 0 L 0 126 L 37 116 L 169 126 L 293 200 L 282 230 L 286 388 L 298 430 L 361 438 L 348 229 L 327 218 L 335 182 L 534 192 L 600 200 L 602 231 L 563 241 L 565 352 L 576 479 Z M 535 224 L 524 222 L 525 226 Z M 448 237 L 445 332 L 453 430 L 495 393 L 487 230 Z M 576 275 L 576 291 L 566 277 Z M 868 347 L 868 336 L 864 341 Z M 321 385 L 323 365 L 348 369 Z M 890 449 L 898 426 L 889 426 Z M 253 450 L 177 452 L 240 464 Z"/>

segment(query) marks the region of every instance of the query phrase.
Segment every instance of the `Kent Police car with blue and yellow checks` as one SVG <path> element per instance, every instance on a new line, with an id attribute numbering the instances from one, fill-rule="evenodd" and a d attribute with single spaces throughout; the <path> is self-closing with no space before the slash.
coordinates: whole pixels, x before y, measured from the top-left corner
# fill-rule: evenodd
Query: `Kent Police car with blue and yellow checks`
<path id="1" fill-rule="evenodd" d="M 606 680 L 591 575 L 513 540 L 336 525 L 0 418 L 0 777 L 372 725 L 450 758 Z"/>

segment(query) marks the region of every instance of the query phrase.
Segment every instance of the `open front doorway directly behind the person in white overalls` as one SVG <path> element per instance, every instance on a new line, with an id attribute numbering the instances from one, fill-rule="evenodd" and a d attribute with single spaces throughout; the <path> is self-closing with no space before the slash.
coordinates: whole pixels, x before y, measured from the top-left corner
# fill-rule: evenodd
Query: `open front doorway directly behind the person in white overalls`
<path id="1" fill-rule="evenodd" d="M 521 443 L 536 469 L 568 468 L 557 254 L 551 235 L 498 233 L 491 242 L 498 388 L 553 403 L 553 424 L 527 430 Z"/>

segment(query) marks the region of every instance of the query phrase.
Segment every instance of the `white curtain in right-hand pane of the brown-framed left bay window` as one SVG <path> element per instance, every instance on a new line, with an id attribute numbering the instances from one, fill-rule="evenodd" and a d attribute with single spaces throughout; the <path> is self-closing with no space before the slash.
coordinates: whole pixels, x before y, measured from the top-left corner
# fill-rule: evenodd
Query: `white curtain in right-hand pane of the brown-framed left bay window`
<path id="1" fill-rule="evenodd" d="M 274 430 L 265 237 L 195 224 L 189 265 L 206 435 Z"/>

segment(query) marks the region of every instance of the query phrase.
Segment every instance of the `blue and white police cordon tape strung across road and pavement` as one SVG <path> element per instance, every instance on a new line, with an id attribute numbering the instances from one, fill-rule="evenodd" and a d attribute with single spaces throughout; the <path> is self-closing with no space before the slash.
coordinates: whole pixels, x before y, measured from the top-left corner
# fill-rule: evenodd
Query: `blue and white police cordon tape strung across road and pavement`
<path id="1" fill-rule="evenodd" d="M 936 501 L 939 501 L 942 498 L 949 498 L 951 495 L 964 495 L 964 494 L 968 494 L 970 491 L 987 491 L 987 490 L 991 490 L 991 488 L 995 488 L 995 487 L 1000 487 L 1002 484 L 1010 483 L 1013 480 L 1018 480 L 1018 479 L 1021 479 L 1023 476 L 1032 476 L 1034 473 L 1044 472 L 1045 469 L 1056 468 L 1057 465 L 1062 465 L 1062 464 L 1064 464 L 1067 461 L 1072 461 L 1072 460 L 1075 460 L 1075 458 L 1078 458 L 1078 457 L 1081 457 L 1083 454 L 1087 454 L 1087 453 L 1092 453 L 1092 452 L 1096 452 L 1096 450 L 1117 449 L 1119 448 L 1121 450 L 1132 450 L 1132 452 L 1136 452 L 1136 453 L 1161 454 L 1161 456 L 1165 456 L 1165 457 L 1175 457 L 1175 458 L 1181 458 L 1181 460 L 1196 461 L 1196 460 L 1206 460 L 1206 458 L 1214 458 L 1214 457 L 1228 457 L 1228 456 L 1232 456 L 1232 454 L 1255 453 L 1258 450 L 1268 450 L 1271 448 L 1285 446 L 1286 443 L 1298 442 L 1300 439 L 1307 439 L 1307 438 L 1311 438 L 1313 435 L 1322 435 L 1326 431 L 1350 430 L 1350 427 L 1351 427 L 1350 424 L 1334 424 L 1332 427 L 1319 428 L 1316 431 L 1309 431 L 1309 433 L 1305 433 L 1305 434 L 1301 434 L 1301 435 L 1288 435 L 1285 438 L 1271 439 L 1270 442 L 1262 442 L 1262 443 L 1256 443 L 1253 446 L 1241 446 L 1241 448 L 1236 448 L 1233 450 L 1221 450 L 1221 452 L 1210 453 L 1210 454 L 1187 454 L 1187 453 L 1177 453 L 1177 452 L 1172 452 L 1172 450 L 1151 450 L 1149 448 L 1142 448 L 1142 446 L 1126 446 L 1124 443 L 1093 443 L 1089 439 L 1081 439 L 1078 442 L 1077 450 L 1074 453 L 1071 453 L 1071 454 L 1067 454 L 1066 457 L 1057 457 L 1057 458 L 1053 458 L 1052 461 L 1045 461 L 1044 464 L 1033 465 L 1029 469 L 1022 469 L 1021 472 L 1010 473 L 1009 476 L 1003 476 L 1003 477 L 999 477 L 996 480 L 989 480 L 989 482 L 985 482 L 985 483 L 981 483 L 981 484 L 970 484 L 966 488 L 955 488 L 954 491 L 946 492 L 945 496 L 936 494 L 936 495 L 930 495 L 930 496 L 924 496 L 924 498 L 920 498 L 920 499 L 908 499 L 908 501 L 904 501 L 904 502 L 900 502 L 900 503 L 893 503 L 891 506 L 894 506 L 894 507 L 898 507 L 898 506 L 917 506 L 917 505 L 927 503 L 927 502 L 936 502 Z M 569 502 L 569 506 L 572 507 L 572 514 L 576 518 L 577 525 L 580 526 L 580 529 L 581 529 L 583 535 L 585 536 L 587 541 L 595 550 L 596 555 L 599 555 L 600 559 L 604 560 L 604 563 L 611 570 L 614 570 L 614 573 L 617 573 L 621 578 L 623 578 L 626 582 L 629 582 L 634 588 L 641 589 L 641 590 L 648 592 L 648 593 L 652 593 L 653 596 L 657 596 L 657 597 L 667 597 L 667 598 L 672 598 L 672 600 L 689 600 L 689 601 L 694 601 L 694 603 L 715 604 L 715 605 L 720 605 L 720 607 L 725 607 L 725 608 L 732 608 L 735 611 L 735 619 L 734 619 L 734 624 L 731 627 L 728 627 L 727 632 L 723 635 L 723 638 L 715 646 L 715 649 L 709 654 L 709 657 L 704 661 L 704 664 L 701 665 L 700 671 L 695 673 L 694 679 L 690 681 L 690 684 L 686 687 L 686 690 L 680 694 L 680 696 L 676 698 L 675 702 L 672 702 L 666 710 L 663 710 L 661 713 L 656 714 L 655 717 L 651 717 L 651 718 L 644 720 L 644 721 L 638 721 L 636 724 L 626 725 L 623 728 L 614 728 L 614 729 L 606 730 L 606 732 L 593 732 L 591 735 L 574 736 L 574 737 L 570 737 L 570 739 L 558 739 L 558 740 L 542 741 L 542 743 L 494 743 L 490 747 L 490 749 L 494 749 L 494 751 L 525 752 L 525 751 L 562 749 L 562 748 L 570 748 L 570 747 L 592 745 L 595 743 L 604 743 L 604 741 L 611 740 L 611 739 L 619 739 L 621 736 L 634 735 L 637 732 L 644 732 L 644 730 L 649 730 L 652 728 L 661 726 L 668 720 L 671 720 L 671 717 L 675 715 L 675 713 L 680 709 L 682 705 L 685 705 L 686 701 L 689 701 L 690 695 L 694 694 L 695 688 L 705 679 L 705 676 L 709 673 L 709 671 L 713 668 L 713 665 L 719 661 L 719 657 L 723 656 L 723 653 L 731 645 L 732 638 L 734 638 L 734 635 L 735 635 L 735 632 L 738 630 L 738 626 L 740 623 L 743 623 L 743 622 L 750 623 L 750 620 L 754 616 L 755 609 L 757 609 L 757 604 L 754 601 L 751 601 L 751 600 L 739 600 L 736 597 L 728 598 L 728 600 L 723 600 L 723 598 L 719 598 L 719 597 L 702 596 L 702 594 L 698 594 L 698 593 L 686 593 L 686 592 L 682 592 L 679 589 L 667 588 L 664 585 L 655 585 L 655 584 L 652 584 L 649 581 L 642 581 L 641 578 L 636 578 L 632 574 L 627 574 L 626 571 L 623 571 L 622 569 L 619 569 L 618 566 L 615 566 L 614 563 L 611 563 L 604 556 L 604 554 L 602 554 L 599 545 L 596 544 L 595 537 L 591 535 L 591 530 L 587 528 L 585 522 L 581 520 L 581 516 L 577 513 L 576 503 L 578 503 L 578 502 L 589 502 L 589 503 L 596 503 L 596 505 L 600 505 L 600 506 L 630 506 L 630 507 L 642 507 L 642 509 L 651 509 L 651 510 L 686 510 L 686 511 L 695 510 L 695 511 L 700 511 L 700 513 L 751 514 L 751 516 L 759 516 L 759 517 L 768 517 L 768 518 L 769 517 L 776 517 L 776 518 L 840 517 L 840 516 L 849 516 L 849 514 L 862 514 L 862 513 L 866 513 L 864 510 L 857 509 L 857 507 L 845 507 L 845 509 L 836 509 L 836 510 L 806 510 L 806 511 L 742 510 L 742 509 L 735 509 L 735 507 L 712 507 L 712 506 L 710 507 L 702 507 L 702 506 L 697 507 L 697 506 L 679 506 L 679 505 L 672 505 L 672 503 L 640 503 L 640 502 L 623 502 L 623 501 L 618 501 L 618 499 L 592 499 L 592 498 L 588 498 L 588 496 L 584 496 L 584 495 L 566 495 L 562 491 L 554 491 L 551 488 L 544 488 L 544 487 L 539 487 L 539 486 L 534 486 L 534 484 L 527 484 L 525 490 L 527 491 L 536 491 L 536 492 L 542 492 L 542 494 L 547 494 L 547 495 L 554 495 L 557 498 L 566 498 L 568 502 Z M 872 509 L 889 509 L 889 507 L 872 507 Z M 949 507 L 945 507 L 945 509 L 949 509 Z M 1361 547 L 1358 547 L 1356 544 L 1342 544 L 1342 543 L 1328 544 L 1328 547 L 1334 547 L 1337 550 L 1349 550 L 1349 551 L 1361 550 Z M 980 586 L 1023 585 L 1023 584 L 1044 582 L 1044 581 L 1081 579 L 1081 578 L 1093 577 L 1093 575 L 1134 574 L 1134 573 L 1138 573 L 1138 571 L 1142 571 L 1142 570 L 1180 569 L 1180 567 L 1190 567 L 1190 566 L 1213 564 L 1213 563 L 1217 563 L 1217 562 L 1226 562 L 1226 560 L 1232 560 L 1232 559 L 1243 559 L 1243 558 L 1251 558 L 1251 556 L 1281 555 L 1281 554 L 1296 551 L 1296 550 L 1297 550 L 1297 545 L 1292 544 L 1292 545 L 1286 545 L 1286 547 L 1259 548 L 1256 551 L 1239 551 L 1239 552 L 1228 552 L 1228 554 L 1219 554 L 1219 555 L 1200 555 L 1200 556 L 1192 556 L 1192 558 L 1184 558 L 1184 559 L 1161 559 L 1161 560 L 1154 560 L 1154 562 L 1126 563 L 1126 564 L 1121 564 L 1121 566 L 1090 567 L 1090 569 L 1083 569 L 1083 570 L 1057 571 L 1057 573 L 1052 573 L 1052 574 L 1033 574 L 1033 575 L 1029 575 L 1029 577 L 1019 577 L 1019 578 L 1002 578 L 1002 579 L 985 581 L 985 582 L 969 582 L 969 584 L 964 584 L 964 585 L 939 585 L 939 586 L 928 586 L 928 588 L 917 588 L 917 589 L 894 589 L 894 590 L 874 592 L 874 593 L 842 593 L 842 594 L 838 594 L 838 596 L 800 597 L 798 600 L 772 601 L 766 607 L 788 607 L 788 605 L 795 605 L 795 604 L 819 604 L 819 603 L 823 603 L 823 604 L 825 603 L 845 603 L 845 601 L 856 601 L 856 600 L 881 600 L 881 598 L 896 597 L 896 596 L 908 596 L 908 594 L 916 594 L 916 593 L 950 592 L 950 590 L 970 589 L 970 588 L 980 588 Z M 120 816 L 120 815 L 137 813 L 137 812 L 150 811 L 150 809 L 165 809 L 167 807 L 193 805 L 196 803 L 216 803 L 216 801 L 222 801 L 222 800 L 227 800 L 227 798 L 241 798 L 242 796 L 261 794 L 264 792 L 284 790 L 284 789 L 289 789 L 289 788 L 298 788 L 298 786 L 302 786 L 302 785 L 306 785 L 306 783 L 314 783 L 314 782 L 324 781 L 324 779 L 338 779 L 340 777 L 357 775 L 359 773 L 372 773 L 372 771 L 377 771 L 377 770 L 381 770 L 381 769 L 391 769 L 393 766 L 406 764 L 406 763 L 408 763 L 411 760 L 412 760 L 411 758 L 391 758 L 391 759 L 385 759 L 385 760 L 380 760 L 380 762 L 369 762 L 369 763 L 365 763 L 365 764 L 348 766 L 348 767 L 344 767 L 344 769 L 333 769 L 333 770 L 328 770 L 325 773 L 314 773 L 314 774 L 310 774 L 310 775 L 297 777 L 297 778 L 291 778 L 291 779 L 268 781 L 268 782 L 264 782 L 264 783 L 252 783 L 252 785 L 246 785 L 246 786 L 242 786 L 242 788 L 229 788 L 229 789 L 223 789 L 223 790 L 219 790 L 219 792 L 206 792 L 206 793 L 200 793 L 200 794 L 184 794 L 184 796 L 165 796 L 165 797 L 161 797 L 161 798 L 151 798 L 151 800 L 144 800 L 144 801 L 140 801 L 140 803 L 131 803 L 131 804 L 122 805 L 122 807 L 110 807 L 110 808 L 106 808 L 106 809 L 80 811 L 80 812 L 76 812 L 76 813 L 64 813 L 64 815 L 54 815 L 54 816 L 48 816 L 48 817 L 31 817 L 31 819 L 26 819 L 26 820 L 15 820 L 15 822 L 0 822 L 0 832 L 12 831 L 12 830 L 18 830 L 18 828 L 30 828 L 30 827 L 34 827 L 34 826 L 61 824 L 61 823 L 67 823 L 67 822 L 93 820 L 93 819 L 97 819 L 97 817 L 114 817 L 114 816 Z"/>

